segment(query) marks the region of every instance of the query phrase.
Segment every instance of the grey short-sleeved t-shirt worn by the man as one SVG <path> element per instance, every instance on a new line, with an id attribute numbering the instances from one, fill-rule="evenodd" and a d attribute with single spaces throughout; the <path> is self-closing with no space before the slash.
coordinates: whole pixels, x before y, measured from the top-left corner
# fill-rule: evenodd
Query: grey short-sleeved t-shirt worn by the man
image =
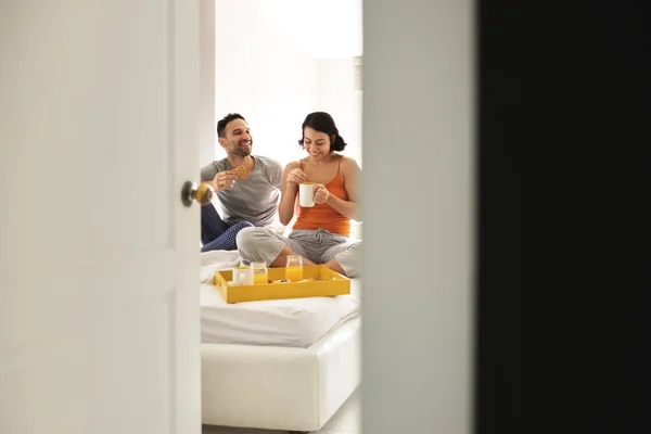
<path id="1" fill-rule="evenodd" d="M 266 156 L 253 157 L 255 166 L 245 181 L 238 179 L 232 189 L 217 192 L 224 221 L 228 225 L 250 221 L 254 226 L 264 227 L 271 225 L 276 219 L 282 184 L 282 166 Z M 228 158 L 213 162 L 202 167 L 201 180 L 212 181 L 219 171 L 232 169 Z"/>

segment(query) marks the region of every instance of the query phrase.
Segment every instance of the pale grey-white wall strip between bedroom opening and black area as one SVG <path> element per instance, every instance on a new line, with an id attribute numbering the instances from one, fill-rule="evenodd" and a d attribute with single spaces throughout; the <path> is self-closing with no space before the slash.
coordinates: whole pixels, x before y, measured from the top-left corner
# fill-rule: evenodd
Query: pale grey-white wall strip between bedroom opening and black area
<path id="1" fill-rule="evenodd" d="M 365 2 L 365 433 L 472 432 L 473 14 Z"/>

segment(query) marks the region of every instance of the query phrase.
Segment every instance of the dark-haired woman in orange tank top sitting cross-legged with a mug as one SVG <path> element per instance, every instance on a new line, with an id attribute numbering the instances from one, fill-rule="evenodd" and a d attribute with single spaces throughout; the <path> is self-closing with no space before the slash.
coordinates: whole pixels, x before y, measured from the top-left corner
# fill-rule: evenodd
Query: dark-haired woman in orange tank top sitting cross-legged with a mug
<path id="1" fill-rule="evenodd" d="M 288 164 L 282 181 L 280 220 L 289 225 L 297 213 L 289 238 L 266 228 L 244 228 L 238 233 L 238 248 L 244 259 L 260 260 L 270 267 L 284 267 L 289 255 L 303 257 L 303 265 L 326 267 L 355 278 L 359 276 L 360 242 L 352 242 L 350 219 L 359 220 L 357 201 L 361 169 L 343 156 L 346 142 L 332 116 L 310 113 L 298 141 L 307 156 Z M 298 184 L 315 182 L 315 206 L 298 204 Z"/>

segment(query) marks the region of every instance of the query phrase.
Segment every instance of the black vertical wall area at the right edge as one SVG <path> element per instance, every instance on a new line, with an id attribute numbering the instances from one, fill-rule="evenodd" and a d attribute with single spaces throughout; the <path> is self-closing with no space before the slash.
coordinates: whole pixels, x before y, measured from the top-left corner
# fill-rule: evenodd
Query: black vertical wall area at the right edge
<path id="1" fill-rule="evenodd" d="M 651 433 L 651 4 L 480 1 L 480 434 Z"/>

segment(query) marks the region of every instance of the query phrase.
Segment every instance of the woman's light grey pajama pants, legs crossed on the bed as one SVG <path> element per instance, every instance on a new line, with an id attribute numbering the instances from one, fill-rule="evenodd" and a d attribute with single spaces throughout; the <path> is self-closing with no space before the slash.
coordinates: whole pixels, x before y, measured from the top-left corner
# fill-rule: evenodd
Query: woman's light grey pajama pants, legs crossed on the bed
<path id="1" fill-rule="evenodd" d="M 269 265 L 286 245 L 315 264 L 324 264 L 335 258 L 347 277 L 359 277 L 361 242 L 350 241 L 326 229 L 294 229 L 285 238 L 273 229 L 244 228 L 238 232 L 237 244 L 240 255 L 247 260 Z"/>

